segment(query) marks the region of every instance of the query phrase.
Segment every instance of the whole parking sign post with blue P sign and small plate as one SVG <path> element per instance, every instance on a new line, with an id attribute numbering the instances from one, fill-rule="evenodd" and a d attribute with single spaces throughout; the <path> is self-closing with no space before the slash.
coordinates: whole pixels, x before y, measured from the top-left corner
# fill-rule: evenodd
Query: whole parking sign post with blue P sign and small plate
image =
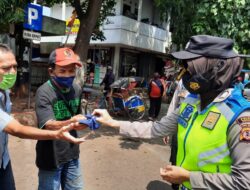
<path id="1" fill-rule="evenodd" d="M 29 99 L 28 99 L 28 109 L 30 109 L 30 100 L 31 100 L 31 74 L 32 74 L 32 41 L 33 40 L 41 40 L 41 33 L 33 32 L 42 30 L 42 16 L 43 8 L 37 4 L 29 3 L 25 9 L 24 19 L 25 22 L 23 27 L 28 30 L 23 31 L 23 38 L 30 40 L 30 48 L 29 48 Z"/>

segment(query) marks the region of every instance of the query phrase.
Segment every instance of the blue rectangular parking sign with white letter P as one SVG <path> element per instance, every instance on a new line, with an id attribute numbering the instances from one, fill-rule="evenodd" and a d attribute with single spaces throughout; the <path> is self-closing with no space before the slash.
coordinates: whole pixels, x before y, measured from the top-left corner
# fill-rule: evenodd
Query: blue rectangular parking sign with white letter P
<path id="1" fill-rule="evenodd" d="M 43 7 L 29 3 L 25 8 L 23 27 L 30 30 L 42 30 Z"/>

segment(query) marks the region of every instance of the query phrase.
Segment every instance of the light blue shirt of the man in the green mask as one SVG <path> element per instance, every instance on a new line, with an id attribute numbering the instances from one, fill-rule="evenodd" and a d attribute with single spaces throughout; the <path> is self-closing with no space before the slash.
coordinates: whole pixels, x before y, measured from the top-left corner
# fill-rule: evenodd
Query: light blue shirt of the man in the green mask
<path id="1" fill-rule="evenodd" d="M 8 114 L 11 111 L 9 91 L 0 92 L 0 168 L 6 168 L 10 161 L 8 151 L 8 135 L 3 131 L 7 124 L 12 120 Z"/>

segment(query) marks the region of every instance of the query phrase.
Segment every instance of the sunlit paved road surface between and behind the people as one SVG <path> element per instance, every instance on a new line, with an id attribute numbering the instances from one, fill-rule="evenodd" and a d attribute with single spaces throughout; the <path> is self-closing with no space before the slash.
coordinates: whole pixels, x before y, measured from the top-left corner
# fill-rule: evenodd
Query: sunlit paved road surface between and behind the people
<path id="1" fill-rule="evenodd" d="M 10 137 L 17 190 L 37 189 L 35 143 Z M 161 139 L 128 139 L 102 128 L 80 147 L 86 190 L 171 189 L 159 176 L 159 168 L 169 160 L 169 147 Z"/>

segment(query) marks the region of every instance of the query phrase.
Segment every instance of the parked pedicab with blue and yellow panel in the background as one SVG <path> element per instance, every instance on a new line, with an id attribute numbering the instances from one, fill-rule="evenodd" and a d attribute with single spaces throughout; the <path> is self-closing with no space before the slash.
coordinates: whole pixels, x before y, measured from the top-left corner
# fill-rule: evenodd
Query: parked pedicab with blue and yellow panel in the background
<path id="1" fill-rule="evenodd" d="M 143 79 L 140 78 L 140 80 Z M 119 83 L 119 80 L 117 82 Z M 133 82 L 135 80 L 132 80 Z M 146 112 L 146 96 L 143 88 L 135 88 L 135 86 L 133 84 L 127 89 L 114 87 L 107 97 L 100 90 L 83 88 L 82 111 L 85 114 L 91 114 L 94 109 L 103 108 L 113 116 L 128 116 L 133 121 L 140 120 Z"/>

